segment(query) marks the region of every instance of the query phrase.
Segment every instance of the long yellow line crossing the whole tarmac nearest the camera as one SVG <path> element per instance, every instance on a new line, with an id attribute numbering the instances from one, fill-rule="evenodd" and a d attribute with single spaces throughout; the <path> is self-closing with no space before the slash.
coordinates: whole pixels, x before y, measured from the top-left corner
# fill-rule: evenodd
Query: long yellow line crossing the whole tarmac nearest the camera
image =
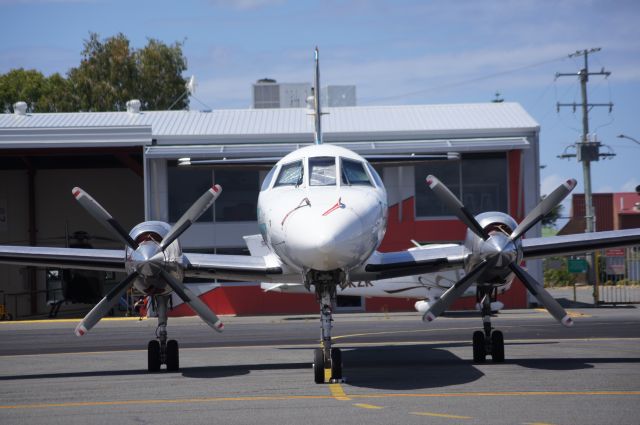
<path id="1" fill-rule="evenodd" d="M 379 394 L 349 394 L 351 399 L 385 399 L 385 398 L 447 398 L 447 397 L 539 397 L 539 396 L 640 396 L 640 391 L 505 391 L 505 392 L 465 392 L 465 393 L 379 393 Z M 332 400 L 333 395 L 271 395 L 271 396 L 237 396 L 237 397 L 202 397 L 186 399 L 140 399 L 113 401 L 86 401 L 66 403 L 33 403 L 0 405 L 2 409 L 46 409 L 56 407 L 99 407 L 124 406 L 142 404 L 190 404 L 190 403 L 219 403 L 228 401 L 277 401 L 277 400 Z M 416 412 L 420 413 L 420 412 Z"/>

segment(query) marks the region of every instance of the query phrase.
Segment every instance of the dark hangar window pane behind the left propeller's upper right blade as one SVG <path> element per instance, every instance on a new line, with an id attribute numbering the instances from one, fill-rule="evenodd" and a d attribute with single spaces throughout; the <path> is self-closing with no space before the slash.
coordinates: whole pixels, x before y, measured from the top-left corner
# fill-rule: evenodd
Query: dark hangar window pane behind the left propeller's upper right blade
<path id="1" fill-rule="evenodd" d="M 213 185 L 211 170 L 185 168 L 177 165 L 167 167 L 169 189 L 169 221 L 175 223 L 193 203 Z M 213 208 L 200 216 L 198 222 L 213 220 Z"/>

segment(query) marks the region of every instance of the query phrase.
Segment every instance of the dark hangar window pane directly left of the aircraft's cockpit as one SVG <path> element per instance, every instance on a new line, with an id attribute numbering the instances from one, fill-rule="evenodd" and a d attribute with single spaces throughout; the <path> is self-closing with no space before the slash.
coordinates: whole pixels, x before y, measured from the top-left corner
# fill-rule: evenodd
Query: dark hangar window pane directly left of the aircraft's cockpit
<path id="1" fill-rule="evenodd" d="M 257 169 L 214 171 L 215 182 L 222 186 L 216 200 L 216 221 L 256 221 L 260 172 Z"/>

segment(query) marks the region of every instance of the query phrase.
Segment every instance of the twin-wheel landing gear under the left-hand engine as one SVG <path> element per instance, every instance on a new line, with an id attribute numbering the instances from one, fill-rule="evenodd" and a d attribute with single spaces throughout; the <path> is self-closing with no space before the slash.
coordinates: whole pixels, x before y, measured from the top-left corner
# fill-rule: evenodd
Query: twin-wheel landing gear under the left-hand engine
<path id="1" fill-rule="evenodd" d="M 149 341 L 147 346 L 147 368 L 149 372 L 157 372 L 161 365 L 167 365 L 167 371 L 177 371 L 180 369 L 180 354 L 178 341 L 167 340 L 167 304 L 169 296 L 158 295 L 153 297 L 152 302 L 158 313 L 157 339 Z"/>

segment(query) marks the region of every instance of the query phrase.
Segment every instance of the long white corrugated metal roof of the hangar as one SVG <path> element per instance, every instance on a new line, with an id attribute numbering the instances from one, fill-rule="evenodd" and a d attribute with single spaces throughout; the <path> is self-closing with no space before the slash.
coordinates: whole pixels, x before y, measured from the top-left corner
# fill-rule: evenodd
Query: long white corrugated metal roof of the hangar
<path id="1" fill-rule="evenodd" d="M 518 103 L 326 108 L 327 142 L 371 142 L 536 135 L 538 123 Z M 0 149 L 46 146 L 307 143 L 313 119 L 304 108 L 0 114 Z"/>

